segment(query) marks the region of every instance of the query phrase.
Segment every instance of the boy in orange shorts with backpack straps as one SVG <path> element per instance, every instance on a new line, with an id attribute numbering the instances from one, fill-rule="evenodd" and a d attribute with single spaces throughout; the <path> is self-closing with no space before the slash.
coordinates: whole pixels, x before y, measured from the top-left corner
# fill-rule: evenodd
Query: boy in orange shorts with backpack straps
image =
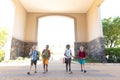
<path id="1" fill-rule="evenodd" d="M 50 59 L 50 50 L 49 50 L 49 45 L 46 45 L 46 49 L 42 51 L 42 58 L 43 58 L 43 69 L 44 72 L 48 72 L 48 61 Z"/>

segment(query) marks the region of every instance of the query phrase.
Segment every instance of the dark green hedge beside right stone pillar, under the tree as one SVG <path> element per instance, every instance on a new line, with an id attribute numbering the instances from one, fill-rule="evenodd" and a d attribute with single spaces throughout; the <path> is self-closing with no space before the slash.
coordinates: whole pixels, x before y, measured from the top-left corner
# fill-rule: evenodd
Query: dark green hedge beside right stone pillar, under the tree
<path id="1" fill-rule="evenodd" d="M 107 48 L 106 55 L 108 55 L 107 62 L 120 63 L 120 48 Z"/>

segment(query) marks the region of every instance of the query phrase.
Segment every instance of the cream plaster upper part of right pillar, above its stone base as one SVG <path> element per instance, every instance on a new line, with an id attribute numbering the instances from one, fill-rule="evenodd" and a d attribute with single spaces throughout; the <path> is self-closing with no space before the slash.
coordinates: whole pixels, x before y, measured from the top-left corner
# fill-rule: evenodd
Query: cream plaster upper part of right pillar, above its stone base
<path id="1" fill-rule="evenodd" d="M 87 12 L 87 42 L 103 37 L 100 23 L 99 6 L 103 0 L 96 0 Z"/>

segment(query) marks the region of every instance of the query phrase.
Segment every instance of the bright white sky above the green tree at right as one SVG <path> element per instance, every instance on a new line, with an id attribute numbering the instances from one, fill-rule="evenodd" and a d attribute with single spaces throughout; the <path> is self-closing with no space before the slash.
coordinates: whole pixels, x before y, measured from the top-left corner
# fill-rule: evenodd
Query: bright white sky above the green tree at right
<path id="1" fill-rule="evenodd" d="M 104 0 L 101 5 L 101 17 L 116 17 L 120 16 L 120 0 Z"/>

